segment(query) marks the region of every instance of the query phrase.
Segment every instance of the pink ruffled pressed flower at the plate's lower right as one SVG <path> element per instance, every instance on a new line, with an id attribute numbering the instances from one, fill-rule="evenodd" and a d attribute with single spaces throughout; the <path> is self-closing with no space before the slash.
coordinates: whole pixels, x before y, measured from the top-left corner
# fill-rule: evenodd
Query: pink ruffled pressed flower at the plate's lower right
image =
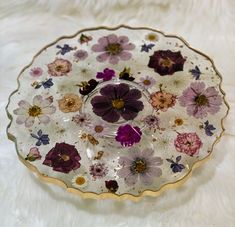
<path id="1" fill-rule="evenodd" d="M 202 147 L 202 141 L 195 132 L 180 133 L 177 135 L 174 145 L 177 151 L 190 156 L 197 155 Z"/>

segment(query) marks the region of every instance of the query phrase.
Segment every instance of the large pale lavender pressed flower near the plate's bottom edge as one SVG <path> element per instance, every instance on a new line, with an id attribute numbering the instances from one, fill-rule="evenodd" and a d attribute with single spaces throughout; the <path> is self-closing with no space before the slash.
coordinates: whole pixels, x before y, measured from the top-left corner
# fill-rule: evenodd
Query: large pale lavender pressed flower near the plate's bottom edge
<path id="1" fill-rule="evenodd" d="M 129 155 L 120 157 L 119 164 L 122 166 L 117 175 L 124 178 L 128 186 L 133 186 L 138 179 L 144 185 L 153 183 L 154 178 L 162 175 L 159 168 L 163 160 L 160 157 L 153 156 L 154 150 L 144 149 L 140 151 L 137 147 L 129 150 Z"/>

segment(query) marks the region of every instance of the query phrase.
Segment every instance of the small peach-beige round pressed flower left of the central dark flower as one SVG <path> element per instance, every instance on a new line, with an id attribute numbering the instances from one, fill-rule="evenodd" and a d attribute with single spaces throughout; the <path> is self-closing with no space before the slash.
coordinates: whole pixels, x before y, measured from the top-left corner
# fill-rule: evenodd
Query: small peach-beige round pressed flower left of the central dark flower
<path id="1" fill-rule="evenodd" d="M 59 109 L 64 113 L 76 112 L 82 107 L 82 99 L 75 94 L 65 94 L 64 97 L 58 100 Z"/>

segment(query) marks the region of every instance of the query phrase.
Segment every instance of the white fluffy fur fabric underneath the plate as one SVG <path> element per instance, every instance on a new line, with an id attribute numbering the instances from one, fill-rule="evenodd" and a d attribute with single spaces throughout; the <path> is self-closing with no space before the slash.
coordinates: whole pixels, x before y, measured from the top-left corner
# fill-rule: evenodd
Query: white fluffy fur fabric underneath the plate
<path id="1" fill-rule="evenodd" d="M 0 0 L 0 226 L 235 226 L 234 12 L 234 0 Z M 86 27 L 119 24 L 179 34 L 210 55 L 231 107 L 211 159 L 183 186 L 138 203 L 82 200 L 41 183 L 5 133 L 7 97 L 39 49 Z"/>

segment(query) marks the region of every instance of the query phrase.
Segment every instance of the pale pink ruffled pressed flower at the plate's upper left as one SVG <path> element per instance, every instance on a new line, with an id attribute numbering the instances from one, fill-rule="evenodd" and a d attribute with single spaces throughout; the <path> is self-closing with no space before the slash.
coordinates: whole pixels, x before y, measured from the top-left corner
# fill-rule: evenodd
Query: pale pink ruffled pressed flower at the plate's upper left
<path id="1" fill-rule="evenodd" d="M 48 73 L 51 76 L 66 76 L 72 70 L 72 64 L 65 59 L 56 58 L 52 63 L 47 65 Z"/>

